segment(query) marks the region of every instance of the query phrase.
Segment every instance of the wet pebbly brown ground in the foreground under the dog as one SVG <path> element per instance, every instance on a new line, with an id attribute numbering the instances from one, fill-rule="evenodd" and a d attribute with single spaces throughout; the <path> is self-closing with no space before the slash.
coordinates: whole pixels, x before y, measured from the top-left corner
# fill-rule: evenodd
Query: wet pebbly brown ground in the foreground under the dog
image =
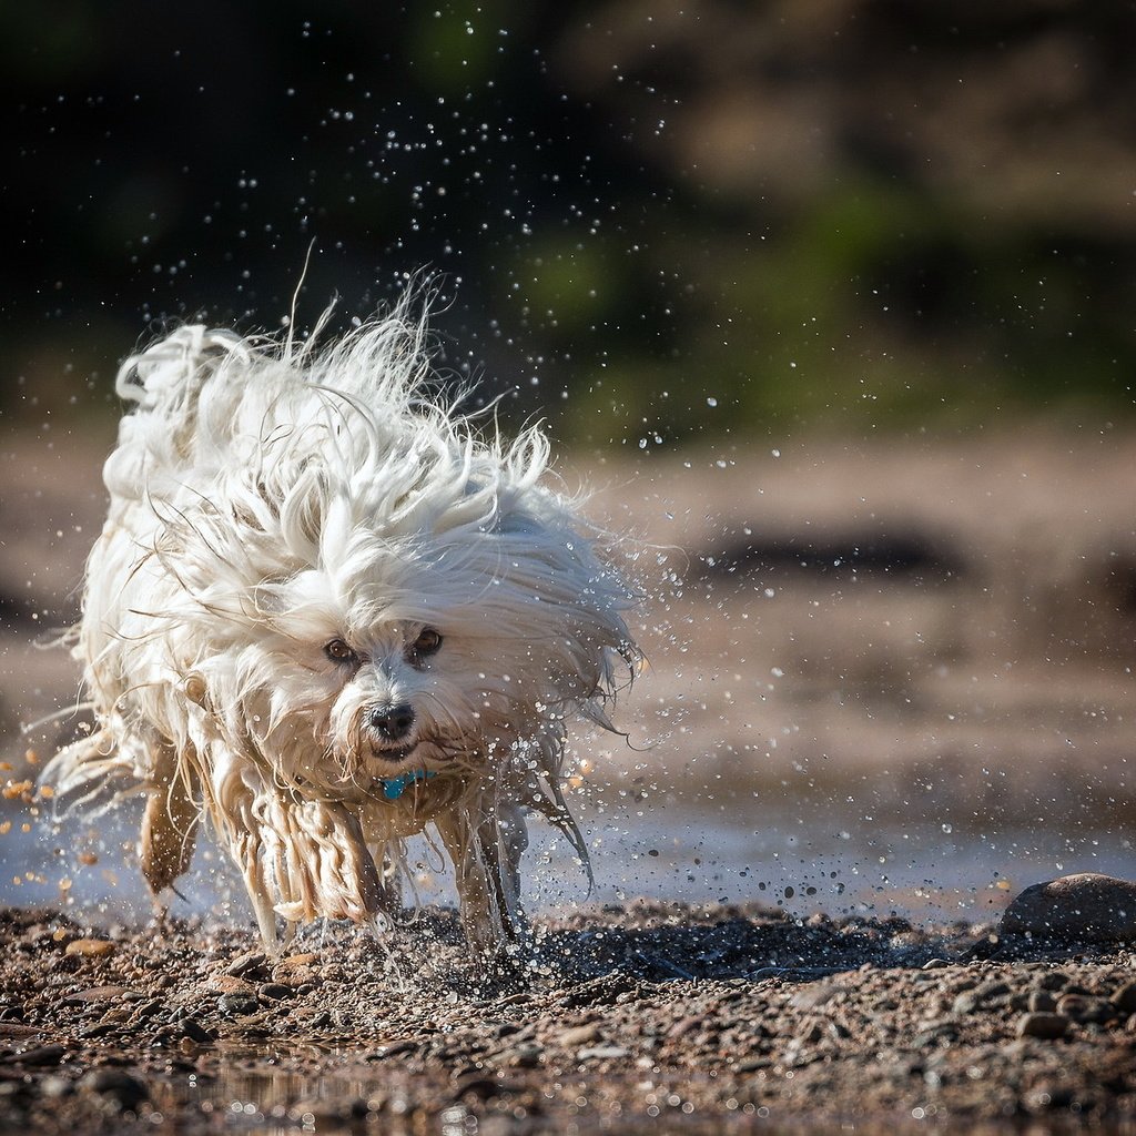
<path id="1" fill-rule="evenodd" d="M 309 929 L 277 960 L 244 932 L 8 910 L 0 1127 L 1136 1122 L 1130 947 L 648 902 L 536 933 L 486 977 L 437 909 L 385 947 Z"/>

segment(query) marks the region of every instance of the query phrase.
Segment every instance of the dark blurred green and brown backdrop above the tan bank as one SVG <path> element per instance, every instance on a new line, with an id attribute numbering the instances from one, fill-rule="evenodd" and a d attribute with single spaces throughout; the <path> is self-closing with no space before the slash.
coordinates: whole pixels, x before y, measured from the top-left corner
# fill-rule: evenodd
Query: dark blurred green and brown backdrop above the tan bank
<path id="1" fill-rule="evenodd" d="M 0 8 L 0 408 L 148 331 L 441 275 L 443 365 L 584 445 L 1133 416 L 1136 6 Z M 567 412 L 565 410 L 567 408 Z M 648 427 L 648 428 L 644 428 Z"/>

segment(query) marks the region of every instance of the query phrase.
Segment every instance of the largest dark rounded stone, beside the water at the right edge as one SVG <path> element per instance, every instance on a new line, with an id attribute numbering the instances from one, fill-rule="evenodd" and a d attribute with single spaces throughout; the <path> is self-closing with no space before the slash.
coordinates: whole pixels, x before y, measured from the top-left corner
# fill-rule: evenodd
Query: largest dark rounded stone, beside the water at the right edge
<path id="1" fill-rule="evenodd" d="M 1136 883 L 1079 872 L 1034 884 L 1011 901 L 1001 930 L 1059 941 L 1136 938 Z"/>

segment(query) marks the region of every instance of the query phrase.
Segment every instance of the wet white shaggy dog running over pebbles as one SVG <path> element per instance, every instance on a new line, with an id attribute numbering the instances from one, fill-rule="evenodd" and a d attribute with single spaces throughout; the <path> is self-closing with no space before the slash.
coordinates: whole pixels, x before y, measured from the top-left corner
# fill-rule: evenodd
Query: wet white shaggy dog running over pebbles
<path id="1" fill-rule="evenodd" d="M 566 724 L 608 726 L 633 596 L 535 428 L 504 444 L 442 406 L 406 303 L 327 349 L 182 327 L 128 359 L 75 657 L 95 716 L 45 776 L 148 794 L 157 895 L 208 817 L 265 942 L 399 905 L 433 825 L 462 924 L 524 927 L 524 812 L 586 849 Z M 124 780 L 125 779 L 125 780 Z"/>

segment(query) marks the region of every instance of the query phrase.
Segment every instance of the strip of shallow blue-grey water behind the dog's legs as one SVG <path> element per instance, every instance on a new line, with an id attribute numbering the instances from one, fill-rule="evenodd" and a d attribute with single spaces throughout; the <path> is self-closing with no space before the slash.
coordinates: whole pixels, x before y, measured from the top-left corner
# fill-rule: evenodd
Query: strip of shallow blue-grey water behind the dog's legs
<path id="1" fill-rule="evenodd" d="M 919 818 L 866 826 L 832 808 L 797 810 L 794 817 L 760 802 L 711 811 L 674 799 L 655 808 L 644 801 L 633 807 L 592 801 L 579 819 L 594 888 L 590 894 L 567 841 L 537 818 L 524 861 L 531 910 L 646 896 L 759 901 L 802 917 L 824 911 L 983 921 L 1038 880 L 1074 871 L 1136 875 L 1133 841 L 1122 832 L 1076 840 L 1037 827 L 957 833 Z M 28 833 L 14 826 L 0 845 L 0 903 L 64 902 L 100 922 L 147 918 L 151 905 L 131 851 L 136 832 L 131 808 L 107 815 L 98 826 L 67 820 L 57 830 L 42 824 Z M 94 852 L 98 862 L 80 864 L 75 853 L 81 850 Z M 423 902 L 453 902 L 449 868 L 425 841 L 411 842 L 408 864 L 412 891 Z M 178 891 L 183 897 L 174 896 L 170 907 L 175 914 L 251 924 L 235 871 L 209 845 L 198 850 Z"/>

